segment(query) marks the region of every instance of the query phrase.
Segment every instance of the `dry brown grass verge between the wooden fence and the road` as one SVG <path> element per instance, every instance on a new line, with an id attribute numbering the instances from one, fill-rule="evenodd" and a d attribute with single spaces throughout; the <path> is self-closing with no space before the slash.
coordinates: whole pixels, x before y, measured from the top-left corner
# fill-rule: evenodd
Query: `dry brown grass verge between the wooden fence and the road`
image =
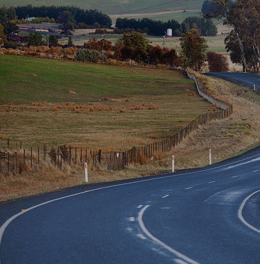
<path id="1" fill-rule="evenodd" d="M 168 154 L 156 153 L 152 158 L 144 158 L 139 165 L 130 165 L 126 170 L 110 172 L 102 167 L 89 166 L 89 183 L 131 179 L 139 176 L 159 174 L 171 170 L 171 156 L 175 155 L 175 169 L 202 167 L 208 164 L 208 149 L 212 151 L 213 163 L 239 154 L 259 144 L 260 138 L 260 97 L 252 92 L 244 93 L 232 83 L 211 79 L 211 85 L 218 90 L 218 98 L 225 98 L 233 104 L 234 114 L 223 120 L 211 122 L 193 132 Z M 239 94 L 239 95 L 238 95 Z M 213 109 L 214 106 L 211 106 Z M 189 122 L 188 119 L 180 120 Z M 101 135 L 97 135 L 99 137 Z M 116 136 L 116 135 L 115 135 Z M 155 140 L 156 134 L 148 138 Z M 138 138 L 132 138 L 139 145 Z M 77 145 L 78 147 L 83 145 Z M 75 145 L 71 145 L 75 147 Z M 106 149 L 107 152 L 113 150 Z M 60 188 L 84 183 L 83 166 L 64 166 L 62 171 L 50 164 L 43 163 L 24 167 L 21 175 L 0 176 L 0 199 L 10 199 L 35 193 L 58 190 Z"/>

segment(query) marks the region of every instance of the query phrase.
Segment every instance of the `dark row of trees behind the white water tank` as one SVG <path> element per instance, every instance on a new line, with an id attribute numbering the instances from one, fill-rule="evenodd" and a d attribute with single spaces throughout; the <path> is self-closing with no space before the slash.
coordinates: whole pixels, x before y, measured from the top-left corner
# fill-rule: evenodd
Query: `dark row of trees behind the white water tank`
<path id="1" fill-rule="evenodd" d="M 144 19 L 118 18 L 116 19 L 116 27 L 119 29 L 135 28 L 136 31 L 147 31 L 151 35 L 164 35 L 167 28 L 172 28 L 173 35 L 176 37 L 180 37 L 182 33 L 187 33 L 192 28 L 197 29 L 200 35 L 205 36 L 213 36 L 218 32 L 212 20 L 204 17 L 187 17 L 182 24 L 174 19 L 162 22 L 147 17 Z"/>

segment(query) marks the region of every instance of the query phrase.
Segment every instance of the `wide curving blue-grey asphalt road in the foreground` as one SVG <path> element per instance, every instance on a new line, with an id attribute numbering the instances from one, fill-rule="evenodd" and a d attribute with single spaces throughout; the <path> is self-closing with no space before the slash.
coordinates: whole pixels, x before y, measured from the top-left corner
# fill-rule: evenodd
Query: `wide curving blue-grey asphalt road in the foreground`
<path id="1" fill-rule="evenodd" d="M 258 149 L 201 170 L 1 203 L 1 264 L 259 263 L 259 189 Z"/>

